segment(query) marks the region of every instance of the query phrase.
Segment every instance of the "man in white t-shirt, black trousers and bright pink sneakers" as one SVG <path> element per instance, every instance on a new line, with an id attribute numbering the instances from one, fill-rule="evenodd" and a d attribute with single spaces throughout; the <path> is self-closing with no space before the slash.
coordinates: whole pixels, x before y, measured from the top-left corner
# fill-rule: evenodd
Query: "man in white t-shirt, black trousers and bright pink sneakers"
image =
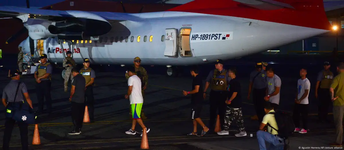
<path id="1" fill-rule="evenodd" d="M 298 80 L 298 92 L 296 93 L 293 120 L 295 124 L 294 132 L 307 133 L 307 118 L 308 118 L 308 95 L 311 88 L 311 83 L 306 78 L 307 70 L 302 68 L 300 70 L 301 79 Z M 300 128 L 300 114 L 302 116 L 303 128 Z"/>

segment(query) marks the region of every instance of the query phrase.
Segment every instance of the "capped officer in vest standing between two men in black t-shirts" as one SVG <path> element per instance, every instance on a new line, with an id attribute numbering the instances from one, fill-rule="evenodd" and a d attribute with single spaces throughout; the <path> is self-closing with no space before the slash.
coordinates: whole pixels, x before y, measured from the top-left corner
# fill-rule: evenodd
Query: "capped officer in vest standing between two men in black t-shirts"
<path id="1" fill-rule="evenodd" d="M 216 111 L 220 115 L 221 130 L 224 130 L 223 124 L 225 122 L 226 113 L 226 99 L 227 99 L 227 87 L 230 81 L 230 77 L 227 75 L 227 71 L 223 68 L 223 61 L 221 59 L 216 60 L 215 70 L 209 72 L 206 78 L 206 83 L 204 86 L 203 97 L 206 97 L 206 91 L 210 84 L 210 120 L 208 128 L 214 131 L 214 123 L 216 120 Z"/>

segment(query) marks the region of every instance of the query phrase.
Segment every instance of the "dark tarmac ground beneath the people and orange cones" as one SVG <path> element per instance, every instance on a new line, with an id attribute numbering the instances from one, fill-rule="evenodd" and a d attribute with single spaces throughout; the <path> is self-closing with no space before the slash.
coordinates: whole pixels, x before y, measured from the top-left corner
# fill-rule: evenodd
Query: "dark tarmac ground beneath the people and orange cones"
<path id="1" fill-rule="evenodd" d="M 187 70 L 181 77 L 167 77 L 161 75 L 161 70 L 147 67 L 149 74 L 148 88 L 144 99 L 143 110 L 148 117 L 143 120 L 144 124 L 151 129 L 147 134 L 150 149 L 165 150 L 256 150 L 259 149 L 255 133 L 258 130 L 258 121 L 250 120 L 255 114 L 251 100 L 247 100 L 247 89 L 249 84 L 248 74 L 253 71 L 253 65 L 236 65 L 238 68 L 238 79 L 241 83 L 243 99 L 244 126 L 248 133 L 245 137 L 235 137 L 238 127 L 233 123 L 230 135 L 220 136 L 207 134 L 204 137 L 189 137 L 187 133 L 192 132 L 192 120 L 190 119 L 190 96 L 184 96 L 182 90 L 191 90 L 192 77 Z M 297 80 L 300 66 L 288 64 L 273 64 L 276 74 L 282 81 L 280 95 L 280 109 L 292 112 L 295 93 L 297 92 Z M 314 87 L 316 73 L 321 70 L 321 65 L 305 64 L 308 69 L 308 79 L 311 81 L 309 95 L 309 132 L 307 134 L 295 133 L 290 139 L 292 149 L 298 147 L 326 147 L 327 143 L 334 140 L 334 124 L 318 123 L 318 100 L 314 98 Z M 91 65 L 92 67 L 92 65 Z M 288 67 L 288 69 L 287 69 Z M 203 67 L 202 77 L 205 79 L 208 71 L 214 67 L 208 65 Z M 41 145 L 30 146 L 35 150 L 43 149 L 139 149 L 141 143 L 140 134 L 127 135 L 125 132 L 131 127 L 129 116 L 129 100 L 124 96 L 127 92 L 127 80 L 124 77 L 124 69 L 111 72 L 96 72 L 94 98 L 95 98 L 95 123 L 84 124 L 82 134 L 68 135 L 73 128 L 71 120 L 71 104 L 68 101 L 68 92 L 63 91 L 63 79 L 61 73 L 56 71 L 52 76 L 52 103 L 53 113 L 37 117 Z M 158 73 L 160 72 L 160 74 Z M 0 73 L 6 76 L 5 72 Z M 0 78 L 0 90 L 9 82 L 9 78 Z M 29 95 L 33 101 L 34 110 L 37 109 L 35 91 L 35 80 L 32 75 L 22 76 L 21 79 L 28 88 Z M 209 91 L 209 90 L 208 90 Z M 209 92 L 208 92 L 209 93 Z M 5 112 L 0 107 L 0 112 Z M 329 108 L 332 112 L 332 108 Z M 0 115 L 0 135 L 4 132 L 4 116 Z M 209 119 L 208 97 L 204 100 L 201 118 L 207 125 Z M 331 114 L 328 118 L 333 120 Z M 137 124 L 136 130 L 141 131 Z M 34 125 L 29 126 L 29 143 L 32 141 Z M 198 126 L 198 133 L 202 129 Z M 250 136 L 252 134 L 252 137 Z M 2 141 L 0 136 L 0 141 Z M 14 128 L 11 137 L 11 148 L 21 149 L 19 129 Z M 319 148 L 320 149 L 320 148 Z"/>

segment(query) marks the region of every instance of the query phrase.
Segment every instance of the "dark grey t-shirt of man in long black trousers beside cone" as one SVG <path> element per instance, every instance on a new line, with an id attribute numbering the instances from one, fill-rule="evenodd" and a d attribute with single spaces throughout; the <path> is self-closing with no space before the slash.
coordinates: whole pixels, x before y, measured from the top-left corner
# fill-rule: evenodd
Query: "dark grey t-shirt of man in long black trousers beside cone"
<path id="1" fill-rule="evenodd" d="M 75 86 L 75 92 L 72 97 L 72 102 L 84 103 L 85 101 L 85 85 L 86 80 L 81 75 L 78 74 L 72 79 L 72 85 Z"/>

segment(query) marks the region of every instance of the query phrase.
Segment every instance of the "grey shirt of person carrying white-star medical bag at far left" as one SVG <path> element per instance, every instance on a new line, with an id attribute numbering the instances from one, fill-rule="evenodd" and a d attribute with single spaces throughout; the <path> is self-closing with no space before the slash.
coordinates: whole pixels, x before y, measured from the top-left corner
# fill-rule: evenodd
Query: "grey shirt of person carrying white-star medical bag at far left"
<path id="1" fill-rule="evenodd" d="M 10 83 L 6 85 L 2 92 L 2 98 L 6 99 L 7 102 L 14 102 L 15 91 L 17 90 L 19 80 L 11 80 Z M 24 100 L 23 93 L 27 93 L 28 89 L 26 88 L 23 82 L 20 83 L 17 97 L 15 102 L 21 102 Z"/>

